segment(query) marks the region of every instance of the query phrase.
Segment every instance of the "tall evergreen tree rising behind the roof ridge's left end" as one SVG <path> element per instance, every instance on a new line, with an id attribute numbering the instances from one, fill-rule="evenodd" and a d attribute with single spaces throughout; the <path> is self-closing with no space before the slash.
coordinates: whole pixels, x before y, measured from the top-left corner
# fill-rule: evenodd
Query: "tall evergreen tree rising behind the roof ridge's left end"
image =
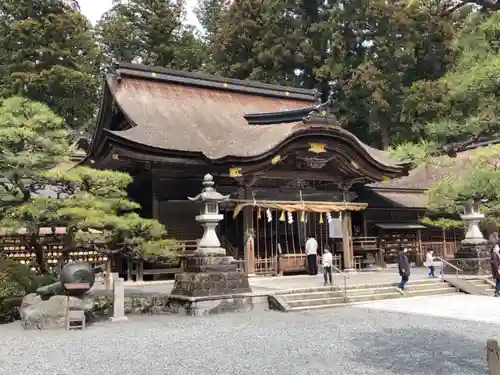
<path id="1" fill-rule="evenodd" d="M 204 48 L 183 22 L 185 4 L 173 0 L 116 2 L 99 21 L 96 33 L 109 66 L 114 60 L 197 70 Z"/>

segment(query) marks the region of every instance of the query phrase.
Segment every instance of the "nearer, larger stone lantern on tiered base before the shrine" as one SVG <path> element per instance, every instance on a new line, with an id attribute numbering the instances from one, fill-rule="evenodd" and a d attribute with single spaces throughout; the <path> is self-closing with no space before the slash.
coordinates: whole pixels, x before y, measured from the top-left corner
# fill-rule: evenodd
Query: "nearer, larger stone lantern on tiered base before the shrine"
<path id="1" fill-rule="evenodd" d="M 214 188 L 210 174 L 203 179 L 203 190 L 191 202 L 201 204 L 200 214 L 195 220 L 203 226 L 203 236 L 196 251 L 183 254 L 183 272 L 175 275 L 175 285 L 171 297 L 214 297 L 250 293 L 248 275 L 240 270 L 238 262 L 226 255 L 215 228 L 224 218 L 219 212 L 219 204 L 229 199 Z"/>

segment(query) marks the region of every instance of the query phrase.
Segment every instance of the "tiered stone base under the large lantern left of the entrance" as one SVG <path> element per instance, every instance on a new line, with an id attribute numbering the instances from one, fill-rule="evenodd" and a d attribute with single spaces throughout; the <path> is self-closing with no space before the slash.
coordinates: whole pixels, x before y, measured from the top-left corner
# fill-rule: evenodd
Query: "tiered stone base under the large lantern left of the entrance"
<path id="1" fill-rule="evenodd" d="M 214 297 L 251 293 L 248 274 L 231 256 L 185 255 L 184 270 L 175 275 L 171 297 Z"/>

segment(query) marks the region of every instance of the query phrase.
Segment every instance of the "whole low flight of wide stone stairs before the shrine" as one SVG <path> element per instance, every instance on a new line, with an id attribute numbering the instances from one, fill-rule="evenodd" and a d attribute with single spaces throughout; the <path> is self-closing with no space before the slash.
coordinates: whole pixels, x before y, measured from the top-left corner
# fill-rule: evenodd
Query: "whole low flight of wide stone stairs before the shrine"
<path id="1" fill-rule="evenodd" d="M 346 295 L 339 287 L 319 287 L 280 291 L 269 296 L 272 309 L 280 311 L 301 311 L 346 306 L 354 303 L 392 298 L 407 298 L 439 294 L 458 293 L 448 283 L 436 280 L 410 281 L 401 294 L 397 283 L 348 286 Z"/>

